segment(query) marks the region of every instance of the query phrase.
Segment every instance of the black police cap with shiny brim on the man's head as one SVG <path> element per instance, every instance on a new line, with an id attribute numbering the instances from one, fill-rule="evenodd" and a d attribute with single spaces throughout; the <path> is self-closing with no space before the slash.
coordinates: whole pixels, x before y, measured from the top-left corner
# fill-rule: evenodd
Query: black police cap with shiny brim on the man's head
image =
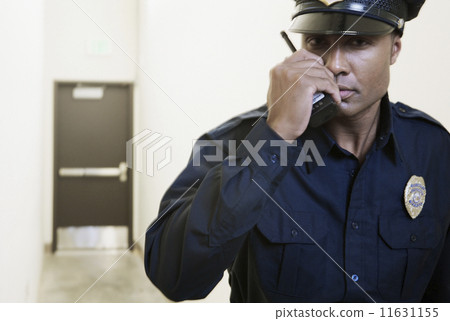
<path id="1" fill-rule="evenodd" d="M 425 0 L 295 0 L 289 30 L 309 34 L 384 35 L 417 17 Z"/>

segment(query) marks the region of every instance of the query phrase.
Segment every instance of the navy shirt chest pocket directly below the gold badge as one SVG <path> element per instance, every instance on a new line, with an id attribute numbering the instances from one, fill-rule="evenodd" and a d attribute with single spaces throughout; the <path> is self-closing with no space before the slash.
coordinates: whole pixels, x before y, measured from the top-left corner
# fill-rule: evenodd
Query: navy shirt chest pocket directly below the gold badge
<path id="1" fill-rule="evenodd" d="M 383 299 L 399 302 L 417 296 L 419 279 L 431 277 L 428 259 L 442 238 L 441 230 L 438 220 L 425 212 L 415 220 L 395 214 L 380 217 L 378 291 Z"/>

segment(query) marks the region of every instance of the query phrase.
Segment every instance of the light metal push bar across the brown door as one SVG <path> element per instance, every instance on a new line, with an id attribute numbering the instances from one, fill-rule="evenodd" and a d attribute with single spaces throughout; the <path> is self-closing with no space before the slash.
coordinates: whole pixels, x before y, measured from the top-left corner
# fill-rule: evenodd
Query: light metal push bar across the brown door
<path id="1" fill-rule="evenodd" d="M 60 177 L 118 177 L 125 183 L 128 180 L 127 163 L 121 162 L 119 167 L 61 167 Z"/>

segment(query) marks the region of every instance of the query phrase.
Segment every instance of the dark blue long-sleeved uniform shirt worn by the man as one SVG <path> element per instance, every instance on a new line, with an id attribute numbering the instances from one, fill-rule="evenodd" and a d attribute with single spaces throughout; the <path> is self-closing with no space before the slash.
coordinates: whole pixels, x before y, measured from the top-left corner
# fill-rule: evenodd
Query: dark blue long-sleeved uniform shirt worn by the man
<path id="1" fill-rule="evenodd" d="M 172 300 L 198 299 L 228 269 L 231 302 L 450 302 L 448 132 L 386 95 L 361 166 L 322 128 L 285 147 L 286 158 L 265 118 L 252 126 L 266 110 L 200 138 L 217 148 L 194 149 L 147 232 L 152 282 Z M 325 166 L 313 150 L 299 165 L 308 141 Z M 416 219 L 404 204 L 413 175 L 426 185 Z"/>

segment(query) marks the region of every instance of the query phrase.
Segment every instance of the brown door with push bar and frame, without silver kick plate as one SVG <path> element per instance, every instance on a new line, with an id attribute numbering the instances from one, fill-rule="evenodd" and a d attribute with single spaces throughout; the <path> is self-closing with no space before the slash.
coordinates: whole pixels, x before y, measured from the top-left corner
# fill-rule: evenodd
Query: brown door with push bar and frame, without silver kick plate
<path id="1" fill-rule="evenodd" d="M 60 227 L 127 226 L 131 245 L 132 88 L 55 84 L 53 251 Z"/>

